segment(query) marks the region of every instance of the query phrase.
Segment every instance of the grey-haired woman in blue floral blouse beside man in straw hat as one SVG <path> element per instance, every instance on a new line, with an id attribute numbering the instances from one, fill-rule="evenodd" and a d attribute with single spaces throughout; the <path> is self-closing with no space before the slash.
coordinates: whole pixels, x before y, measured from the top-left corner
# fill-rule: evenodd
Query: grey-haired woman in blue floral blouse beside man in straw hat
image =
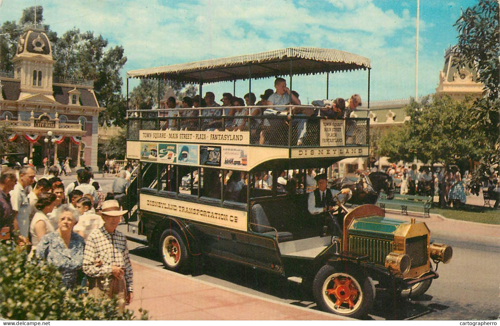
<path id="1" fill-rule="evenodd" d="M 79 283 L 78 273 L 83 262 L 85 242 L 73 232 L 78 214 L 69 206 L 58 209 L 58 228 L 45 234 L 36 247 L 36 255 L 59 267 L 62 282 L 67 288 Z"/>

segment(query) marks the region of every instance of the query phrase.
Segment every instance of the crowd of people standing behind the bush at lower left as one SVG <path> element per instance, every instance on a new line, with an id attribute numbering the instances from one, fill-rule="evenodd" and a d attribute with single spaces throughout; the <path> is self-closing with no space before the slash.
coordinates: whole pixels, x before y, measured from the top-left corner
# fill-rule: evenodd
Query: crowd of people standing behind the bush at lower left
<path id="1" fill-rule="evenodd" d="M 132 299 L 132 269 L 125 236 L 116 226 L 127 210 L 123 200 L 114 199 L 120 194 L 101 191 L 90 168 L 78 169 L 76 175 L 76 181 L 64 186 L 56 166 L 36 181 L 30 165 L 3 167 L 0 240 L 13 240 L 30 248 L 29 259 L 57 266 L 66 288 L 83 285 L 94 297 L 117 296 L 123 309 Z M 125 177 L 122 170 L 117 179 L 126 182 Z"/>

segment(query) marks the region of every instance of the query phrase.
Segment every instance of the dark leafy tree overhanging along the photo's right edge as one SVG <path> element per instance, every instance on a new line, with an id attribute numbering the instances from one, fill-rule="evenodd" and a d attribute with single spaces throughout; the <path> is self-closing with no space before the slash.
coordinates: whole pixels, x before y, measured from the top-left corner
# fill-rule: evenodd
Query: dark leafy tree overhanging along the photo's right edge
<path id="1" fill-rule="evenodd" d="M 481 162 L 489 168 L 500 161 L 500 30 L 497 0 L 478 0 L 466 8 L 455 22 L 459 32 L 459 66 L 469 65 L 477 70 L 478 80 L 484 83 L 484 92 L 471 105 L 475 123 L 471 130 L 487 135 L 482 145 L 485 150 Z M 499 167 L 497 167 L 498 169 Z"/>

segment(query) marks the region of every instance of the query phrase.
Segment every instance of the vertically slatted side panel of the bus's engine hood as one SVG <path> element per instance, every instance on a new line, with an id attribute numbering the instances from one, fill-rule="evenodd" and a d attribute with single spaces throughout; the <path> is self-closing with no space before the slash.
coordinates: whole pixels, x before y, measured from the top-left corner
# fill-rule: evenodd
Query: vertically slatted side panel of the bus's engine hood
<path id="1" fill-rule="evenodd" d="M 374 239 L 365 236 L 349 235 L 349 251 L 368 255 L 369 260 L 383 265 L 385 256 L 393 250 L 394 244 L 389 240 Z"/>

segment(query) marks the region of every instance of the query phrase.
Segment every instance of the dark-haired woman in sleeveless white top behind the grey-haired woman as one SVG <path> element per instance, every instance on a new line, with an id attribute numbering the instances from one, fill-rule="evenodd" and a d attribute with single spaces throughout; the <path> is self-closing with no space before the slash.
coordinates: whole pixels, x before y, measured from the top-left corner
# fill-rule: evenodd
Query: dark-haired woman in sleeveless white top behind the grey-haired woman
<path id="1" fill-rule="evenodd" d="M 52 192 L 42 192 L 38 195 L 38 200 L 34 204 L 36 212 L 29 224 L 29 234 L 31 234 L 31 243 L 36 247 L 40 238 L 48 232 L 53 232 L 52 223 L 47 214 L 54 209 L 57 204 L 57 196 Z"/>

